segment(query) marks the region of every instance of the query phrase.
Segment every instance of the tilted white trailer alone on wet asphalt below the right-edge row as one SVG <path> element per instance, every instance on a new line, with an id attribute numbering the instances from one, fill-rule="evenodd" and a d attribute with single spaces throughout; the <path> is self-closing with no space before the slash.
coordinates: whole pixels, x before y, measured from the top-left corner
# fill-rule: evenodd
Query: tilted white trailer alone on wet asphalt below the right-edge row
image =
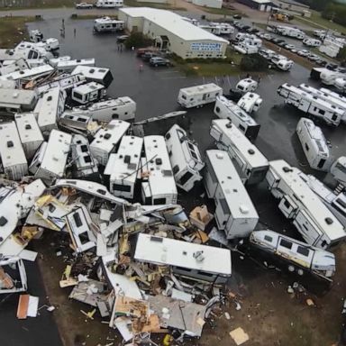
<path id="1" fill-rule="evenodd" d="M 321 128 L 310 119 L 300 118 L 296 125 L 296 134 L 310 167 L 327 172 L 332 162 Z"/>

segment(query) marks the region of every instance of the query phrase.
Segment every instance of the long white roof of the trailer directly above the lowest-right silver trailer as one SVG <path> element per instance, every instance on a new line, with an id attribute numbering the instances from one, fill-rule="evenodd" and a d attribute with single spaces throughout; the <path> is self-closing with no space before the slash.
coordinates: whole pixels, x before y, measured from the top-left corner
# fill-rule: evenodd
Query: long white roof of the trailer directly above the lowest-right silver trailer
<path id="1" fill-rule="evenodd" d="M 323 205 L 323 202 L 314 194 L 314 191 L 299 177 L 301 171 L 298 168 L 290 167 L 283 159 L 269 162 L 270 170 L 278 175 L 296 195 L 296 198 L 305 205 L 314 221 L 319 224 L 331 241 L 344 238 L 346 233 L 341 223 L 332 212 Z"/>

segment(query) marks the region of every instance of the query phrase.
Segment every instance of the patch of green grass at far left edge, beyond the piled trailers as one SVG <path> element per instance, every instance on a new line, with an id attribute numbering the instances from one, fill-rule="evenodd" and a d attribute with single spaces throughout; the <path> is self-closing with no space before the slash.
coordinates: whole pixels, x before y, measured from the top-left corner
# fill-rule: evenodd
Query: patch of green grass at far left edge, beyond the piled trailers
<path id="1" fill-rule="evenodd" d="M 34 22 L 34 17 L 3 17 L 0 20 L 0 47 L 13 48 L 28 38 L 25 23 Z"/>

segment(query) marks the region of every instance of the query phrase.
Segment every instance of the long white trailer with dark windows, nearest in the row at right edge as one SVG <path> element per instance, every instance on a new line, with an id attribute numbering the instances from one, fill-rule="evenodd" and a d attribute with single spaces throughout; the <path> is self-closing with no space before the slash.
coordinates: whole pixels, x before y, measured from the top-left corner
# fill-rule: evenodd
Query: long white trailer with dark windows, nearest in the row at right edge
<path id="1" fill-rule="evenodd" d="M 343 110 L 317 96 L 306 93 L 298 87 L 285 83 L 278 87 L 278 95 L 285 98 L 285 104 L 294 105 L 305 114 L 322 119 L 328 125 L 338 126 L 341 122 Z"/>

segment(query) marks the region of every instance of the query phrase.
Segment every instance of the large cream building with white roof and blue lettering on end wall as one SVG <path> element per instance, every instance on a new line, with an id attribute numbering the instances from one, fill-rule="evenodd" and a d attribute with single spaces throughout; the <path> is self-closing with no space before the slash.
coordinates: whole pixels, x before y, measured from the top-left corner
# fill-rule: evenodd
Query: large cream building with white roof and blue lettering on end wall
<path id="1" fill-rule="evenodd" d="M 209 0 L 215 1 L 215 0 Z M 119 10 L 119 20 L 130 32 L 142 32 L 183 59 L 223 58 L 229 41 L 185 21 L 180 15 L 148 7 Z"/>

